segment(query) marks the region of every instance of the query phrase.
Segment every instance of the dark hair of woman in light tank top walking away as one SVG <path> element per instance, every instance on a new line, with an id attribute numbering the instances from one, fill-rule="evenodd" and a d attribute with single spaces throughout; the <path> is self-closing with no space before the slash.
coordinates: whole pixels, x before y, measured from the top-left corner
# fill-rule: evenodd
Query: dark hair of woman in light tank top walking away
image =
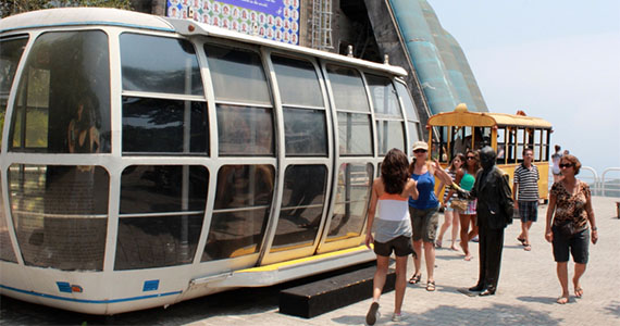
<path id="1" fill-rule="evenodd" d="M 390 149 L 381 163 L 381 178 L 385 192 L 401 193 L 409 179 L 407 155 L 399 149 Z"/>

